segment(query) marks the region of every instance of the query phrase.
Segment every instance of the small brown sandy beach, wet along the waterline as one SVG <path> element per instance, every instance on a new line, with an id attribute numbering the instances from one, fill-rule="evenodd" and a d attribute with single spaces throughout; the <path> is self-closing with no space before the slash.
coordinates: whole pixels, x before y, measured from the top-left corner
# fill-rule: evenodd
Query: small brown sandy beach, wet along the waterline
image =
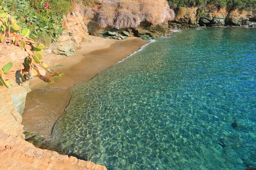
<path id="1" fill-rule="evenodd" d="M 54 54 L 45 56 L 44 61 L 49 64 L 49 68 L 65 74 L 56 78 L 53 84 L 37 77 L 30 81 L 32 91 L 27 95 L 22 115 L 25 131 L 49 139 L 54 123 L 68 105 L 72 85 L 91 79 L 148 43 L 135 37 L 126 40 L 89 38 L 93 41 L 82 42 L 82 48 L 71 57 Z M 57 65 L 63 66 L 54 68 Z"/>

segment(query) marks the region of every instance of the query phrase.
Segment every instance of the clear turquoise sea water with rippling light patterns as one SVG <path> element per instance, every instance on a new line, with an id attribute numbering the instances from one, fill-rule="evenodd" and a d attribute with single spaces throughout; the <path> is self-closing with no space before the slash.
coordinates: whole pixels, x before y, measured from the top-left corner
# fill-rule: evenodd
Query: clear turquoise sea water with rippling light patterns
<path id="1" fill-rule="evenodd" d="M 256 29 L 176 32 L 74 86 L 51 145 L 108 170 L 256 167 Z"/>

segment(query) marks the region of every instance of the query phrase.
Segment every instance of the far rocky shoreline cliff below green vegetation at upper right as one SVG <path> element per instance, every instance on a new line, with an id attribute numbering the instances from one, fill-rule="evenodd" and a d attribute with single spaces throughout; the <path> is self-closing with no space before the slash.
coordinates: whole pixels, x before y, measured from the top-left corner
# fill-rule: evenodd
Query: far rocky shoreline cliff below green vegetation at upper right
<path id="1" fill-rule="evenodd" d="M 204 7 L 205 16 L 197 17 L 198 7 L 186 8 L 183 16 L 178 15 L 173 21 L 169 21 L 172 29 L 197 28 L 199 26 L 242 26 L 254 21 L 256 13 L 244 9 L 218 8 L 215 5 Z"/>

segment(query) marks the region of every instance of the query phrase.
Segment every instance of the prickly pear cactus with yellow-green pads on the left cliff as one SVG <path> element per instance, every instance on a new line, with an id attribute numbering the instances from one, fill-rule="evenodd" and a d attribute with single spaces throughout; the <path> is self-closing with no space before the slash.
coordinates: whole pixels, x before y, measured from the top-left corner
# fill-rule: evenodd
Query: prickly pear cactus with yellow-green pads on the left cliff
<path id="1" fill-rule="evenodd" d="M 44 76 L 45 70 L 40 67 L 40 65 L 45 68 L 48 67 L 42 60 L 44 55 L 43 49 L 45 46 L 40 42 L 35 42 L 32 38 L 29 38 L 29 29 L 21 29 L 17 24 L 17 20 L 11 19 L 8 12 L 8 10 L 4 10 L 3 7 L 0 6 L 0 42 L 20 46 L 29 54 L 29 56 L 25 58 L 23 64 L 25 66 L 22 70 L 22 79 L 24 81 L 30 79 L 29 75 L 36 76 L 40 73 L 40 75 Z M 5 65 L 1 73 L 6 73 L 9 70 L 9 66 L 11 68 L 12 64 Z M 4 84 L 3 77 L 1 77 L 1 80 Z M 4 85 L 6 86 L 6 84 Z"/>

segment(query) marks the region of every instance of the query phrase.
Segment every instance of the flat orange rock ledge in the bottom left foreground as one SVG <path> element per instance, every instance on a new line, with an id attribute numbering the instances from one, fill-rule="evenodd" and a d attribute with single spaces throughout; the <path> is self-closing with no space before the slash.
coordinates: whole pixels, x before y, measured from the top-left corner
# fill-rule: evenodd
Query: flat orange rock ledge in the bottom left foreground
<path id="1" fill-rule="evenodd" d="M 0 169 L 107 170 L 105 166 L 33 146 L 19 136 L 0 131 Z"/>

